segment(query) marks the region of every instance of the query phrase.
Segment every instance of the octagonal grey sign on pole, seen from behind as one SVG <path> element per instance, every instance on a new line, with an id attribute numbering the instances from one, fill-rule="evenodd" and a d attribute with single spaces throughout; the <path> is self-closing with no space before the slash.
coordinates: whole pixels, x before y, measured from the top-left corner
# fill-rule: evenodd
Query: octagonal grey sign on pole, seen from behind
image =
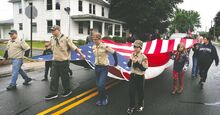
<path id="1" fill-rule="evenodd" d="M 28 5 L 26 8 L 25 8 L 25 15 L 31 19 L 31 5 Z M 34 7 L 32 5 L 32 19 L 36 18 L 38 15 L 38 12 L 37 12 L 37 9 L 36 7 Z"/>

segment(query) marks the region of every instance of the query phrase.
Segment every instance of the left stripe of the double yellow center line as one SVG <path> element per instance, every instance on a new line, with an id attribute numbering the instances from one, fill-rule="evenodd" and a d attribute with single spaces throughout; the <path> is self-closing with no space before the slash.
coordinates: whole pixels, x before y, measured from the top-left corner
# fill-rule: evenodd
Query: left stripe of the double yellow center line
<path id="1" fill-rule="evenodd" d="M 111 81 L 107 82 L 107 84 L 110 84 L 110 83 L 112 83 L 112 82 L 114 82 L 114 81 L 115 81 L 115 80 L 111 80 Z M 49 109 L 47 109 L 47 110 L 44 110 L 44 111 L 38 113 L 37 115 L 45 115 L 45 114 L 47 114 L 47 113 L 49 113 L 49 112 L 51 112 L 51 111 L 53 111 L 53 110 L 56 110 L 56 109 L 58 109 L 58 108 L 60 108 L 60 107 L 62 107 L 62 106 L 64 106 L 64 105 L 66 105 L 66 104 L 68 104 L 68 103 L 70 103 L 70 102 L 76 100 L 76 99 L 81 98 L 82 96 L 85 96 L 85 95 L 87 95 L 87 94 L 89 94 L 89 93 L 95 91 L 96 89 L 97 89 L 97 87 L 94 87 L 94 88 L 92 88 L 92 89 L 90 89 L 90 90 L 88 90 L 88 91 L 85 91 L 84 93 L 81 93 L 80 95 L 77 95 L 77 96 L 75 96 L 75 97 L 73 97 L 73 98 L 70 98 L 70 99 L 68 99 L 68 100 L 66 100 L 66 101 L 64 101 L 64 102 L 62 102 L 62 103 L 60 103 L 60 104 L 58 104 L 58 105 L 55 105 L 55 106 L 53 106 L 53 107 L 51 107 L 51 108 L 49 108 Z"/>

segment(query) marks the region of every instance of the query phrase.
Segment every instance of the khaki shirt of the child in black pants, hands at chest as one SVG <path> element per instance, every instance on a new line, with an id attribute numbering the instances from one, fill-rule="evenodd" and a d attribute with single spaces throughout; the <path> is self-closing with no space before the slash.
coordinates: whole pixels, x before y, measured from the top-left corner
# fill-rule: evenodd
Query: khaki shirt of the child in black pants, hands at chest
<path id="1" fill-rule="evenodd" d="M 147 62 L 147 57 L 142 54 L 142 53 L 133 53 L 131 55 L 131 60 L 132 59 L 137 59 L 138 60 L 138 63 L 142 64 L 144 68 L 147 68 L 148 67 L 148 62 Z M 145 71 L 141 71 L 139 68 L 134 68 L 133 67 L 133 61 L 131 63 L 131 73 L 134 73 L 134 74 L 137 74 L 137 75 L 144 75 Z"/>

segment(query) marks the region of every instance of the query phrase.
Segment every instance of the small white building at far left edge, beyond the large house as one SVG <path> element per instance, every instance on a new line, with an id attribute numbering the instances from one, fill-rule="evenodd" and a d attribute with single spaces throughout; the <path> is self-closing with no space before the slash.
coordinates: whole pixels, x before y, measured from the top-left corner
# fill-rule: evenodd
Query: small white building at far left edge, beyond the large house
<path id="1" fill-rule="evenodd" d="M 13 28 L 13 20 L 0 21 L 0 39 L 8 39 L 8 32 Z"/>

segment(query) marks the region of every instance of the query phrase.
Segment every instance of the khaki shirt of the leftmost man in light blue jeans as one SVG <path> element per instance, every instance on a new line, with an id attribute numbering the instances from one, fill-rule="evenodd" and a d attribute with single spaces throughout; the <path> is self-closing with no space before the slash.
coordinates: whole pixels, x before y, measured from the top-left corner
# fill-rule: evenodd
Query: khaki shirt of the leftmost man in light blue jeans
<path id="1" fill-rule="evenodd" d="M 8 50 L 8 58 L 22 59 L 26 50 L 30 49 L 29 45 L 22 39 L 16 38 L 9 40 L 6 46 Z"/>

